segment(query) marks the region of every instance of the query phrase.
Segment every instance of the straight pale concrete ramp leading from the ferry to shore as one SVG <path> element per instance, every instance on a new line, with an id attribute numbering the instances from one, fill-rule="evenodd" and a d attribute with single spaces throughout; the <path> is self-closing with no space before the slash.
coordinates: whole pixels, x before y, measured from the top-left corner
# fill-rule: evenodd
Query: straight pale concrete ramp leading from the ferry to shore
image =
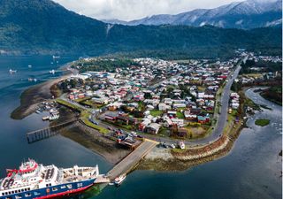
<path id="1" fill-rule="evenodd" d="M 137 149 L 134 149 L 132 153 L 119 162 L 118 165 L 115 165 L 111 171 L 107 172 L 106 176 L 110 180 L 114 180 L 123 173 L 131 172 L 134 166 L 141 161 L 142 157 L 145 157 L 156 145 L 157 142 L 145 140 Z"/>

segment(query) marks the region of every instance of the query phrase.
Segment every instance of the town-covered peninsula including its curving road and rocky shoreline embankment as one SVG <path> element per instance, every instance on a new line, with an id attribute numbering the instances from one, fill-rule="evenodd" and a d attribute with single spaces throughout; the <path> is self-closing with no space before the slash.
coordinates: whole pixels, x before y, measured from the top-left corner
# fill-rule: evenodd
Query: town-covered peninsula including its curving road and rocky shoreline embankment
<path id="1" fill-rule="evenodd" d="M 142 155 L 140 169 L 184 170 L 226 155 L 244 126 L 245 114 L 258 110 L 243 94 L 251 73 L 242 68 L 255 58 L 279 60 L 244 51 L 226 61 L 80 59 L 69 65 L 79 73 L 48 83 L 57 98 L 47 102 L 58 110 L 56 118 L 50 112 L 50 126 L 77 115 L 76 125 L 63 128 L 61 134 L 111 163 L 147 140 L 157 147 Z M 270 82 L 280 74 L 266 73 Z M 31 107 L 41 107 L 34 104 Z M 26 115 L 23 112 L 19 118 Z"/>

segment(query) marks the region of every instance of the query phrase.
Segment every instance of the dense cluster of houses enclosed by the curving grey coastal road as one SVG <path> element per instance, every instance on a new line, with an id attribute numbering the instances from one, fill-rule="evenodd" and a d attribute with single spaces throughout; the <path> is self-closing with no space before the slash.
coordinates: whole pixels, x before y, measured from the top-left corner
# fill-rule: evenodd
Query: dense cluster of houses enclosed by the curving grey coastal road
<path id="1" fill-rule="evenodd" d="M 187 63 L 136 58 L 139 67 L 84 72 L 60 86 L 66 88 L 67 100 L 95 109 L 92 118 L 103 123 L 145 134 L 194 139 L 213 129 L 222 89 L 238 62 L 238 57 Z M 239 106 L 237 97 L 231 96 L 234 110 Z"/>

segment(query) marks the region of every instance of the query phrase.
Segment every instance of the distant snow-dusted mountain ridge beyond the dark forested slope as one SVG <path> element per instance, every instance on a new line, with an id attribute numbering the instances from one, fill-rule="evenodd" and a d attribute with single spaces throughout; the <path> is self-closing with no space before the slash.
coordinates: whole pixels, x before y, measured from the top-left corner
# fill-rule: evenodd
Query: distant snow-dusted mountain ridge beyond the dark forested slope
<path id="1" fill-rule="evenodd" d="M 214 9 L 196 9 L 177 15 L 160 14 L 132 21 L 118 19 L 103 21 L 128 26 L 170 24 L 194 27 L 211 25 L 215 27 L 245 29 L 274 27 L 282 24 L 282 0 L 248 0 L 226 4 Z"/>

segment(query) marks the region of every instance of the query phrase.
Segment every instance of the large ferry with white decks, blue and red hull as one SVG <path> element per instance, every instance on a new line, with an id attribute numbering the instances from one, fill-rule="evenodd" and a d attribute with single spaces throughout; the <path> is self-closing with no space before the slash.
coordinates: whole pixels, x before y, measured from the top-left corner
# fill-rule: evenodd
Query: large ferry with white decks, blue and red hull
<path id="1" fill-rule="evenodd" d="M 38 165 L 28 159 L 19 170 L 7 170 L 7 177 L 0 180 L 0 199 L 70 195 L 90 188 L 98 176 L 98 165 L 62 169 L 55 165 Z"/>

